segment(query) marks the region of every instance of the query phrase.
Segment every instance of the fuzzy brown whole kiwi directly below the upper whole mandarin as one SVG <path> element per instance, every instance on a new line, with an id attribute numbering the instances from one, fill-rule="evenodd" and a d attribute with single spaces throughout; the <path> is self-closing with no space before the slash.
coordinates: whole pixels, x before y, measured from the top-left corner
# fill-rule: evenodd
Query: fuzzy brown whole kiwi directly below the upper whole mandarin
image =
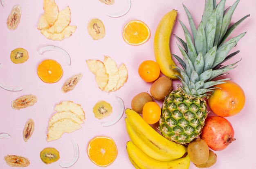
<path id="1" fill-rule="evenodd" d="M 167 77 L 158 78 L 150 87 L 150 94 L 155 100 L 164 100 L 171 93 L 173 85 Z"/>

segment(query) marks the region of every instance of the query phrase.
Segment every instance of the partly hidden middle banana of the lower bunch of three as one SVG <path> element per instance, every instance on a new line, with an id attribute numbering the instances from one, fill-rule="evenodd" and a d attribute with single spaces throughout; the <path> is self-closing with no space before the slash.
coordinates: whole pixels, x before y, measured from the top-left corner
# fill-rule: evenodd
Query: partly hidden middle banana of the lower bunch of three
<path id="1" fill-rule="evenodd" d="M 126 122 L 126 131 L 133 142 L 141 151 L 143 151 L 147 156 L 159 160 L 159 161 L 172 161 L 175 160 L 176 158 L 168 157 L 163 154 L 161 154 L 161 151 L 155 151 L 151 149 L 143 140 L 139 138 L 139 136 L 136 134 L 136 132 L 132 129 L 130 126 L 128 120 L 125 118 L 124 119 Z"/>

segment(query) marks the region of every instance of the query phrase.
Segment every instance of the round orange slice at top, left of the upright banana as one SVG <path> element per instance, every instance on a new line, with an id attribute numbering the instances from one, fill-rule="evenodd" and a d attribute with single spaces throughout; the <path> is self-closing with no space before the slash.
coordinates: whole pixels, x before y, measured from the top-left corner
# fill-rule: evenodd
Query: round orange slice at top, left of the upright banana
<path id="1" fill-rule="evenodd" d="M 148 41 L 150 30 L 144 22 L 131 20 L 124 27 L 123 38 L 128 44 L 140 45 Z"/>

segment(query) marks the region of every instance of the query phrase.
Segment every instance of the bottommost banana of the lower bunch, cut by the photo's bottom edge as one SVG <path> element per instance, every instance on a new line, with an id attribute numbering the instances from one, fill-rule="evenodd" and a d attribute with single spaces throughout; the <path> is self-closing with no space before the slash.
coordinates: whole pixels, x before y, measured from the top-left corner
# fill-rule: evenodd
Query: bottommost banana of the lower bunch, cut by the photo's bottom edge
<path id="1" fill-rule="evenodd" d="M 132 162 L 135 163 L 140 169 L 188 169 L 189 168 L 189 155 L 184 158 L 179 158 L 177 160 L 163 162 L 157 161 L 153 158 L 148 157 L 143 153 L 137 146 L 135 146 L 131 141 L 126 143 L 126 150 L 128 156 Z"/>

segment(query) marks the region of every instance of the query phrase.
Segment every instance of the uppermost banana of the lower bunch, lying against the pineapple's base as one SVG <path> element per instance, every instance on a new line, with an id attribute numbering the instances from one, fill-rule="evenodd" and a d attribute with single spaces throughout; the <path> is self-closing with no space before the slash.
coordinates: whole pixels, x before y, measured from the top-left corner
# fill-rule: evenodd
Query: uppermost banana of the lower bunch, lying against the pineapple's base
<path id="1" fill-rule="evenodd" d="M 135 111 L 127 108 L 125 113 L 126 118 L 135 133 L 137 133 L 139 138 L 154 151 L 160 152 L 168 158 L 180 158 L 186 153 L 186 147 L 161 136 Z"/>

